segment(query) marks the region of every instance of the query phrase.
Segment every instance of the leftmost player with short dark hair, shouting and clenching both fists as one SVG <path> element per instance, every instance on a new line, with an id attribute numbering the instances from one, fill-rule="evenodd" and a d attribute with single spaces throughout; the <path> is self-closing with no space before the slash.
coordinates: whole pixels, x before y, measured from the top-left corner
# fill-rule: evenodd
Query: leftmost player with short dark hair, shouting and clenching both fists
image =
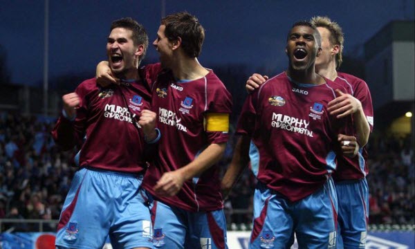
<path id="1" fill-rule="evenodd" d="M 62 149 L 82 149 L 57 225 L 57 248 L 102 248 L 108 236 L 115 248 L 153 248 L 141 183 L 160 132 L 156 113 L 149 111 L 147 71 L 138 71 L 147 44 L 141 24 L 114 21 L 107 55 L 122 84 L 102 88 L 92 78 L 62 97 L 53 138 Z"/>

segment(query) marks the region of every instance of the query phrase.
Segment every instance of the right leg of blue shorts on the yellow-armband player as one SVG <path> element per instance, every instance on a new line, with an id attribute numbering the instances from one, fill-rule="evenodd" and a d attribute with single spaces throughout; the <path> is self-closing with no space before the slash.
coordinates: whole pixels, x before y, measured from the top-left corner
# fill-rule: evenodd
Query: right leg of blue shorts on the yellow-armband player
<path id="1" fill-rule="evenodd" d="M 187 212 L 187 221 L 185 248 L 228 248 L 223 210 Z"/>

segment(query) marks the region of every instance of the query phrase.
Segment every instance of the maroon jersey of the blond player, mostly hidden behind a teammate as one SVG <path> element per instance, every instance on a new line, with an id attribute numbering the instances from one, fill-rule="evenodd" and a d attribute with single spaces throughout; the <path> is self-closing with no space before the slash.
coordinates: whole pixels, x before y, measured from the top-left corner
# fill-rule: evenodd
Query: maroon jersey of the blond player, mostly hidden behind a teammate
<path id="1" fill-rule="evenodd" d="M 334 82 L 344 86 L 349 94 L 360 100 L 363 112 L 365 113 L 367 122 L 369 122 L 369 127 L 372 130 L 374 127 L 374 109 L 371 102 L 369 87 L 366 82 L 347 73 L 338 73 L 338 77 L 336 77 Z M 345 133 L 346 135 L 353 134 L 356 136 L 356 129 L 354 128 L 353 123 L 347 123 L 347 127 L 344 128 L 342 133 Z M 359 150 L 358 156 L 353 158 L 341 155 L 338 156 L 338 169 L 335 174 L 333 174 L 333 179 L 335 181 L 356 180 L 364 178 L 368 173 L 367 151 L 365 147 L 362 147 Z"/>

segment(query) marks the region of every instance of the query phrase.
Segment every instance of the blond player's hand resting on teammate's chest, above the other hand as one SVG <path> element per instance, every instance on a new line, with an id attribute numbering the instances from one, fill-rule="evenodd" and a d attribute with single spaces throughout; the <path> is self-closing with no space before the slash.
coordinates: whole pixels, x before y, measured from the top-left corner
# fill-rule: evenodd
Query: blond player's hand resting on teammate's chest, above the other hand
<path id="1" fill-rule="evenodd" d="M 352 95 L 343 93 L 339 89 L 335 89 L 335 94 L 338 97 L 327 104 L 327 111 L 331 115 L 336 115 L 336 118 L 344 118 L 362 109 L 362 103 Z"/>

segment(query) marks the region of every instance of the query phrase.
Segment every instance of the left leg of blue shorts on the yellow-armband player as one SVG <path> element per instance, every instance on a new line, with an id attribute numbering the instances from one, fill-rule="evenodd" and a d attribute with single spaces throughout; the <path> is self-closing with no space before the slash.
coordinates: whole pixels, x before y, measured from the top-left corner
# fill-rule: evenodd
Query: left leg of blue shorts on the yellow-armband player
<path id="1" fill-rule="evenodd" d="M 153 243 L 155 248 L 185 248 L 187 220 L 183 210 L 154 201 L 151 215 L 154 216 Z"/>

